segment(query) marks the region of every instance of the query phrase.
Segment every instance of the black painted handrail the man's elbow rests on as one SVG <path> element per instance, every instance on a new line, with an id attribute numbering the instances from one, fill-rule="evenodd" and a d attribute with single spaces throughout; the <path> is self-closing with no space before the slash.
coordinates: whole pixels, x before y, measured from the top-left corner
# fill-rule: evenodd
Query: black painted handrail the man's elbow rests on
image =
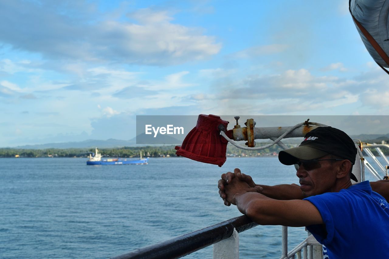
<path id="1" fill-rule="evenodd" d="M 251 229 L 258 224 L 245 215 L 217 223 L 215 225 L 177 236 L 170 240 L 133 250 L 113 259 L 170 259 L 179 258 L 203 249 L 209 245 L 229 238 L 234 231 L 238 233 Z"/>

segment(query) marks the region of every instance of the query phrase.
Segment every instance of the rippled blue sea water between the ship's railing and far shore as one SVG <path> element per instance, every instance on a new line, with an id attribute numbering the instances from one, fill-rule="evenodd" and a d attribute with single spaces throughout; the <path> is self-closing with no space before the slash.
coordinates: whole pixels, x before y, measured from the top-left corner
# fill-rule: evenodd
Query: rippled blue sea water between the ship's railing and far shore
<path id="1" fill-rule="evenodd" d="M 107 166 L 2 158 L 0 257 L 107 258 L 240 216 L 217 189 L 235 167 L 257 184 L 298 183 L 294 167 L 277 157 L 228 158 L 222 168 L 186 158 Z M 366 180 L 375 179 L 366 173 Z M 289 250 L 306 236 L 289 228 Z M 239 239 L 241 258 L 281 256 L 280 226 L 257 226 Z M 212 258 L 212 246 L 185 258 Z"/>

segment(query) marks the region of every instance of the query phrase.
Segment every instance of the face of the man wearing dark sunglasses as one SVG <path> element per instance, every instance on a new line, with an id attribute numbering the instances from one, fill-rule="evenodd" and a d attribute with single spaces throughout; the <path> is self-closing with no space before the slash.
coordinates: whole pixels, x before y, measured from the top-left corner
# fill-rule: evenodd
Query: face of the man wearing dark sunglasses
<path id="1" fill-rule="evenodd" d="M 331 159 L 323 156 L 318 159 Z M 300 189 L 305 197 L 333 191 L 336 182 L 336 163 L 314 161 L 301 163 L 296 175 L 300 179 Z"/>

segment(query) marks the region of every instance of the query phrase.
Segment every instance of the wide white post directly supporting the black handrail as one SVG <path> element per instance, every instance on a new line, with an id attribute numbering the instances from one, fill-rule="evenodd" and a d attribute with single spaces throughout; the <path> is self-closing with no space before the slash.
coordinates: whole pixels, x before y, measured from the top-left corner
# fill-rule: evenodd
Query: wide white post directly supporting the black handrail
<path id="1" fill-rule="evenodd" d="M 235 228 L 229 238 L 214 244 L 214 259 L 239 259 L 239 234 Z"/>

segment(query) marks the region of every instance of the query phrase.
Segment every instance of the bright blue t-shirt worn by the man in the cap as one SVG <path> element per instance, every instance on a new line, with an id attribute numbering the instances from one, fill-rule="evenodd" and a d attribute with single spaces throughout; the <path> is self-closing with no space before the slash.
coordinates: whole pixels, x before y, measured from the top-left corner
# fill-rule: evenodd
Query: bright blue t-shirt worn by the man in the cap
<path id="1" fill-rule="evenodd" d="M 369 181 L 311 196 L 324 224 L 307 226 L 324 258 L 389 258 L 389 205 Z"/>

